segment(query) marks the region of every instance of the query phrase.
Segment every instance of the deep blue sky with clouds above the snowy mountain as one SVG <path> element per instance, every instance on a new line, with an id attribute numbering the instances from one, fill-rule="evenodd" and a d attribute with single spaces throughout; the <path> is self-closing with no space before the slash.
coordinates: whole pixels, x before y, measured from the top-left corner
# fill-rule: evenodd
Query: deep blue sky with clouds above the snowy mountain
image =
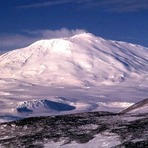
<path id="1" fill-rule="evenodd" d="M 80 32 L 148 47 L 148 0 L 1 0 L 0 52 Z"/>

